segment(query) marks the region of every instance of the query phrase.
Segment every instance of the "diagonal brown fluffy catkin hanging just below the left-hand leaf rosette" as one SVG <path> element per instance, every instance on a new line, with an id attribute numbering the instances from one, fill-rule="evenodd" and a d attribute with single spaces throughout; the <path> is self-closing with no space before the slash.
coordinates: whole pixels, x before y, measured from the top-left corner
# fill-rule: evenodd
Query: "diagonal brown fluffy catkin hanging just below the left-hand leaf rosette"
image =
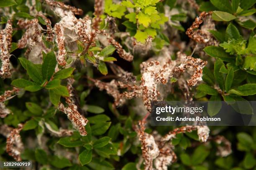
<path id="1" fill-rule="evenodd" d="M 77 105 L 75 105 L 74 101 L 72 100 L 72 88 L 73 88 L 72 83 L 73 82 L 74 82 L 74 79 L 69 78 L 67 87 L 69 90 L 70 97 L 65 97 L 68 107 L 65 107 L 62 103 L 59 103 L 58 109 L 67 115 L 69 120 L 74 125 L 74 128 L 76 128 L 79 131 L 80 135 L 85 136 L 87 135 L 87 132 L 84 126 L 87 124 L 88 120 L 78 112 Z"/>

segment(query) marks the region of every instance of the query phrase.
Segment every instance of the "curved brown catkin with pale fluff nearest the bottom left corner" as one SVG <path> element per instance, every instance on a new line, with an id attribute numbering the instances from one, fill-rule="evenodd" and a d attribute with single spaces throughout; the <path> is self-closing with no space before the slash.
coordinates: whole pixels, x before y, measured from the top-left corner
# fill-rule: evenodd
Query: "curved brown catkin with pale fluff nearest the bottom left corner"
<path id="1" fill-rule="evenodd" d="M 6 140 L 6 152 L 16 161 L 21 161 L 20 153 L 23 150 L 23 143 L 21 141 L 20 131 L 22 128 L 23 125 L 18 124 L 18 128 L 13 129 Z"/>

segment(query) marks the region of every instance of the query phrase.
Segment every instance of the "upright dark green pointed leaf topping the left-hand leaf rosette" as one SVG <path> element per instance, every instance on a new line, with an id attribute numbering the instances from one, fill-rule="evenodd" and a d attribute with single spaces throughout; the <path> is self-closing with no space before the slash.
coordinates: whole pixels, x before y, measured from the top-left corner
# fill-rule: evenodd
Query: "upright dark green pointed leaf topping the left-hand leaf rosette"
<path id="1" fill-rule="evenodd" d="M 42 75 L 43 78 L 49 81 L 51 76 L 54 74 L 55 66 L 57 64 L 54 52 L 51 51 L 44 57 L 44 62 L 42 65 Z"/>

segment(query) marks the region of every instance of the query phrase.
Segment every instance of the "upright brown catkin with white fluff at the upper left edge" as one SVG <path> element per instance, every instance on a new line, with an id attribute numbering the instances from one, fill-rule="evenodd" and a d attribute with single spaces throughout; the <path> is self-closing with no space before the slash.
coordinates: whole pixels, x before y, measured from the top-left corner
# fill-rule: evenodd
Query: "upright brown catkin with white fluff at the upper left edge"
<path id="1" fill-rule="evenodd" d="M 5 29 L 0 32 L 0 59 L 2 61 L 2 67 L 0 69 L 0 77 L 10 78 L 10 50 L 12 42 L 12 23 L 8 20 Z"/>

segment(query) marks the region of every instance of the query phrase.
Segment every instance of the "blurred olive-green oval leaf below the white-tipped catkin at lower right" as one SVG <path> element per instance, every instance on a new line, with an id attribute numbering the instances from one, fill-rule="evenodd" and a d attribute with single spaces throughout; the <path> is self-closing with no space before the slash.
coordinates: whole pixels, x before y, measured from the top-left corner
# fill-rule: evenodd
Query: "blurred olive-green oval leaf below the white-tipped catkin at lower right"
<path id="1" fill-rule="evenodd" d="M 207 148 L 203 145 L 197 147 L 192 155 L 192 165 L 198 165 L 200 163 L 203 163 L 205 158 L 210 154 L 210 151 L 207 150 Z"/>

